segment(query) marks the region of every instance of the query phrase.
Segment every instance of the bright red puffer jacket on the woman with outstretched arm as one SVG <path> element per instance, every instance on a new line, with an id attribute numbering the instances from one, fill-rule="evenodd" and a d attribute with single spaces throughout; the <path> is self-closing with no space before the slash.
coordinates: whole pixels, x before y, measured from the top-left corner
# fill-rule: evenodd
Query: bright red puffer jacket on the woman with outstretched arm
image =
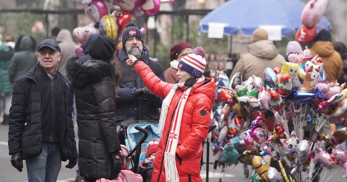
<path id="1" fill-rule="evenodd" d="M 140 61 L 135 65 L 136 72 L 155 95 L 165 98 L 174 84 L 160 80 L 151 69 Z M 202 181 L 200 177 L 200 161 L 203 151 L 202 141 L 206 138 L 211 123 L 210 113 L 212 103 L 215 99 L 216 86 L 213 78 L 196 85 L 189 94 L 183 110 L 181 127 L 179 132 L 178 146 L 176 153 L 182 159 L 178 161 L 176 157 L 176 167 L 179 181 Z M 169 106 L 166 125 L 161 140 L 159 141 L 158 151 L 154 159 L 152 172 L 152 182 L 166 182 L 164 168 L 164 151 L 170 131 L 170 122 L 175 112 L 175 107 L 181 98 L 183 91 L 178 89 Z"/>

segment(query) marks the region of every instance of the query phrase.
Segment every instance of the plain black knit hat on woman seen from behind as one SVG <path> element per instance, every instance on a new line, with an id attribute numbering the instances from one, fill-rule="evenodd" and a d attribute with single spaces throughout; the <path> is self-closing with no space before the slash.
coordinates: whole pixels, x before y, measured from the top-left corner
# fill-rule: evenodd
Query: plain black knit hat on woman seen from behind
<path id="1" fill-rule="evenodd" d="M 116 52 L 116 42 L 108 36 L 98 36 L 92 40 L 89 55 L 93 59 L 108 61 Z"/>

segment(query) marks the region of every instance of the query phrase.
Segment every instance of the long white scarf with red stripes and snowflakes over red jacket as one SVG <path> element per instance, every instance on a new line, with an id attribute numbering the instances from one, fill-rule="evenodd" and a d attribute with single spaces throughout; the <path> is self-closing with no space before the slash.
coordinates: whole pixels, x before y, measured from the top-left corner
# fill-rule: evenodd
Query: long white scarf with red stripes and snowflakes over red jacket
<path id="1" fill-rule="evenodd" d="M 160 119 L 159 119 L 159 134 L 160 135 L 163 134 L 164 127 L 166 125 L 166 118 L 168 115 L 168 110 L 169 110 L 169 106 L 170 106 L 172 98 L 174 97 L 178 87 L 184 90 L 183 95 L 178 101 L 177 109 L 172 119 L 168 142 L 167 142 L 166 150 L 164 151 L 165 177 L 166 177 L 166 181 L 168 182 L 179 181 L 178 172 L 176 168 L 175 155 L 176 155 L 176 148 L 178 144 L 179 130 L 181 127 L 181 120 L 182 120 L 184 106 L 186 105 L 189 93 L 191 92 L 192 88 L 204 80 L 205 80 L 204 76 L 197 78 L 195 81 L 195 84 L 192 87 L 185 86 L 184 83 L 180 83 L 180 84 L 177 83 L 174 87 L 172 87 L 169 94 L 163 100 L 163 104 L 161 106 Z M 167 124 L 170 124 L 170 123 L 167 123 Z"/>

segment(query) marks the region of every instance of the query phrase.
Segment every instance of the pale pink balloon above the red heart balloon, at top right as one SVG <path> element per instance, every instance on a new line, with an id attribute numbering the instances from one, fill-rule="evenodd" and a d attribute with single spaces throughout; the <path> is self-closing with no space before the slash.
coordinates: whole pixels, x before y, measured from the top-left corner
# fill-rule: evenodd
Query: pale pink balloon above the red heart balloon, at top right
<path id="1" fill-rule="evenodd" d="M 328 0 L 310 0 L 301 13 L 301 23 L 313 27 L 322 18 L 327 8 Z"/>

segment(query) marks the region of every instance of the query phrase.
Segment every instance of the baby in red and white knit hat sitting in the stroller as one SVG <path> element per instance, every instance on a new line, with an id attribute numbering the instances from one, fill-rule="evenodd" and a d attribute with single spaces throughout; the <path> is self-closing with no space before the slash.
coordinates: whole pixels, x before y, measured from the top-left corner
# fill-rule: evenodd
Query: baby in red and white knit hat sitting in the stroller
<path id="1" fill-rule="evenodd" d="M 138 173 L 142 174 L 142 170 L 146 167 L 153 166 L 153 161 L 156 155 L 156 151 L 158 149 L 158 140 L 151 140 L 147 144 L 147 154 L 146 159 L 144 159 L 141 164 L 138 166 Z M 151 181 L 152 178 L 152 170 L 148 170 L 146 174 L 144 174 L 144 179 L 146 179 L 147 182 Z"/>

